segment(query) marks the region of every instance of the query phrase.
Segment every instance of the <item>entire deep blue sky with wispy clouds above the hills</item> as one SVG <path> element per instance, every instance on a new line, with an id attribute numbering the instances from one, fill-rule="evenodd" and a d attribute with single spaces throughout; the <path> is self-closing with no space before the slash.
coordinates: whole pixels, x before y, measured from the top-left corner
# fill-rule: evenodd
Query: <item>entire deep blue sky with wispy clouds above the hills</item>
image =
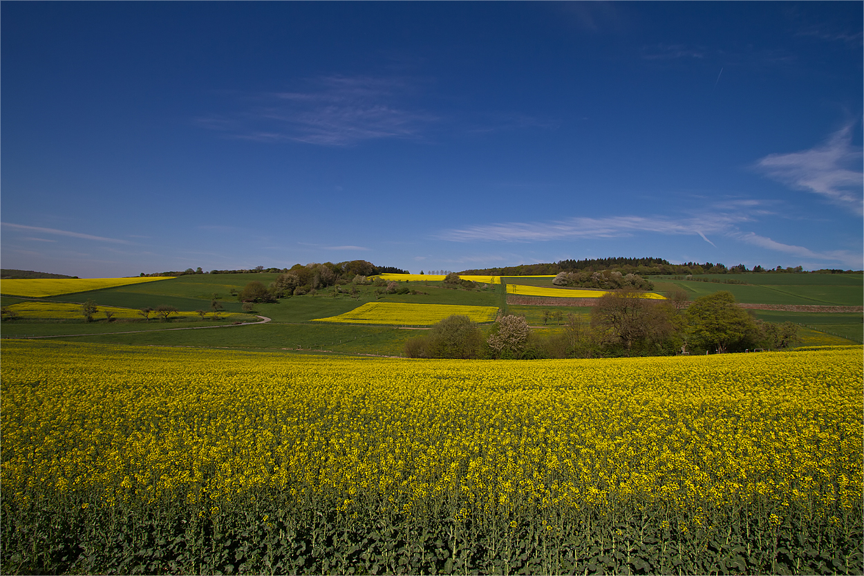
<path id="1" fill-rule="evenodd" d="M 4 268 L 861 269 L 860 2 L 3 2 Z"/>

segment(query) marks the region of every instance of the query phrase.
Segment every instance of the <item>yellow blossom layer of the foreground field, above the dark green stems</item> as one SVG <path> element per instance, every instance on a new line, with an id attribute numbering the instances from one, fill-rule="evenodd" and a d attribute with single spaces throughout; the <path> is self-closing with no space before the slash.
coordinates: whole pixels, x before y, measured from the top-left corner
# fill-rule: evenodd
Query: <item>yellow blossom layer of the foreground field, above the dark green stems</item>
<path id="1" fill-rule="evenodd" d="M 3 498 L 860 518 L 861 348 L 407 361 L 3 345 Z M 65 495 L 65 496 L 64 496 Z M 859 522 L 859 521 L 854 521 Z"/>

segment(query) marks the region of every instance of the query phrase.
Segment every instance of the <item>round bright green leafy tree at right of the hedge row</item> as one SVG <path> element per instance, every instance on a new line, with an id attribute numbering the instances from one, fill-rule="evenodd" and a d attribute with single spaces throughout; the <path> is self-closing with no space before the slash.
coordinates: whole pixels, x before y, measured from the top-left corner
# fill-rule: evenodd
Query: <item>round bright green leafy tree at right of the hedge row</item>
<path id="1" fill-rule="evenodd" d="M 686 313 L 690 340 L 697 348 L 728 352 L 753 348 L 759 327 L 731 292 L 718 291 L 696 298 Z"/>

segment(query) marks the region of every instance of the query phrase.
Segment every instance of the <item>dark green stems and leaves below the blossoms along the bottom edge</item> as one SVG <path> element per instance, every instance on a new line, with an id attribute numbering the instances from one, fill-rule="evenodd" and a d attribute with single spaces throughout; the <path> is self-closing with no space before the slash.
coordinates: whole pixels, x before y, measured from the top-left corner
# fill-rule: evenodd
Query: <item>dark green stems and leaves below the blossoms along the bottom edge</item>
<path id="1" fill-rule="evenodd" d="M 719 510 L 696 527 L 664 509 L 608 515 L 529 506 L 466 520 L 363 504 L 296 502 L 276 491 L 189 514 L 140 509 L 17 508 L 3 500 L 3 573 L 759 573 L 860 574 L 860 518 L 772 526 Z M 687 528 L 689 527 L 689 528 Z"/>

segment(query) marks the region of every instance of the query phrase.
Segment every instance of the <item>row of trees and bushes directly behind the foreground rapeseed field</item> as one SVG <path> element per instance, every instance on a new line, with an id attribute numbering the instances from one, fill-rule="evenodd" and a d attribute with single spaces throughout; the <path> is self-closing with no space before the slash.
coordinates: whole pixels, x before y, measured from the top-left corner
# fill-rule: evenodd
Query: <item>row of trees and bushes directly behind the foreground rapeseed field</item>
<path id="1" fill-rule="evenodd" d="M 692 304 L 680 295 L 659 301 L 643 296 L 632 290 L 609 292 L 598 298 L 589 319 L 569 314 L 562 332 L 550 336 L 532 332 L 519 316 L 499 317 L 486 336 L 467 317 L 449 317 L 428 335 L 406 341 L 405 354 L 412 358 L 596 358 L 786 349 L 800 342 L 795 324 L 756 320 L 727 291 Z"/>

